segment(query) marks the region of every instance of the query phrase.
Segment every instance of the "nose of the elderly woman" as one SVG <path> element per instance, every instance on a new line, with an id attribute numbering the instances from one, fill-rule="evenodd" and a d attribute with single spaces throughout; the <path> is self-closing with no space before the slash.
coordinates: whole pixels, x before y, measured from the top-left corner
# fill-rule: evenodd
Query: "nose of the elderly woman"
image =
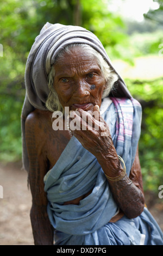
<path id="1" fill-rule="evenodd" d="M 73 96 L 85 97 L 89 94 L 89 85 L 85 81 L 80 80 L 74 83 Z"/>

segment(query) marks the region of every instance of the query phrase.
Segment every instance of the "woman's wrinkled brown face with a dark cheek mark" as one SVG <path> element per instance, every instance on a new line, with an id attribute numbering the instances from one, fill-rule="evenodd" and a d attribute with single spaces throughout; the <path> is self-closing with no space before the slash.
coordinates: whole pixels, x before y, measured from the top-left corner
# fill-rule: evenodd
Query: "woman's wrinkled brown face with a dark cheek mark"
<path id="1" fill-rule="evenodd" d="M 62 107 L 93 111 L 101 106 L 105 78 L 95 57 L 79 48 L 55 64 L 54 89 Z"/>

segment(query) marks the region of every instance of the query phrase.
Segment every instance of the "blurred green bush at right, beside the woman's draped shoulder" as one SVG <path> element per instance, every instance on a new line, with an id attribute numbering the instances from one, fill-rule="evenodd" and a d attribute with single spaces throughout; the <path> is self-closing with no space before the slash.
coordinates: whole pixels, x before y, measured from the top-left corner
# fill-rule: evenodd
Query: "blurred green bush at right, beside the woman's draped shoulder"
<path id="1" fill-rule="evenodd" d="M 158 193 L 159 185 L 163 184 L 163 77 L 126 83 L 143 109 L 139 154 L 144 190 Z"/>

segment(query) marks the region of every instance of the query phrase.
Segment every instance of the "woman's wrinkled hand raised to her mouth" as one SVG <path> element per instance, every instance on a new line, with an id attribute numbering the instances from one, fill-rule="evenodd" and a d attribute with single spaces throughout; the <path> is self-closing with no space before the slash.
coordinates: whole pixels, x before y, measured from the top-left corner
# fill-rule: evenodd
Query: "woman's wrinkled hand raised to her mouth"
<path id="1" fill-rule="evenodd" d="M 70 130 L 85 149 L 96 157 L 108 155 L 113 146 L 109 126 L 102 118 L 96 105 L 93 112 L 83 109 L 70 112 Z"/>

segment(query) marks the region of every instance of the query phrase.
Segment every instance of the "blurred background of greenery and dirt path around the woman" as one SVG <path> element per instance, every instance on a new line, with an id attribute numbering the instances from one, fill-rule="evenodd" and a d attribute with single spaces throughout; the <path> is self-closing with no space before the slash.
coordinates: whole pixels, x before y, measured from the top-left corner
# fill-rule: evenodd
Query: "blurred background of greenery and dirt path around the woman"
<path id="1" fill-rule="evenodd" d="M 143 187 L 163 230 L 163 0 L 5 0 L 0 5 L 0 245 L 33 244 L 20 117 L 28 53 L 47 21 L 95 33 L 141 103 Z"/>

